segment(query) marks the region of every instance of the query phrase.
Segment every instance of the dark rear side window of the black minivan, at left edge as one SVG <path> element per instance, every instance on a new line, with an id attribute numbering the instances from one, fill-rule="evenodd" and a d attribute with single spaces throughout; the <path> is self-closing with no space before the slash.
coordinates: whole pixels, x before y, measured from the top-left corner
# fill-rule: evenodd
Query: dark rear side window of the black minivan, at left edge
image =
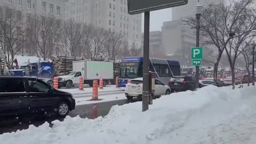
<path id="1" fill-rule="evenodd" d="M 25 92 L 23 79 L 0 79 L 0 92 Z"/>

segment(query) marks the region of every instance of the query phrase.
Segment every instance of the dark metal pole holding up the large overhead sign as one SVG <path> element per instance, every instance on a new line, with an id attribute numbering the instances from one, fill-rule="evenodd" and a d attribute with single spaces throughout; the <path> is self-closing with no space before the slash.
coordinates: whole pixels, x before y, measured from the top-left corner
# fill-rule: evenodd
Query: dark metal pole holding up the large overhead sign
<path id="1" fill-rule="evenodd" d="M 142 111 L 148 110 L 148 105 L 149 105 L 149 18 L 150 18 L 150 13 L 145 12 L 144 47 L 143 47 Z"/>

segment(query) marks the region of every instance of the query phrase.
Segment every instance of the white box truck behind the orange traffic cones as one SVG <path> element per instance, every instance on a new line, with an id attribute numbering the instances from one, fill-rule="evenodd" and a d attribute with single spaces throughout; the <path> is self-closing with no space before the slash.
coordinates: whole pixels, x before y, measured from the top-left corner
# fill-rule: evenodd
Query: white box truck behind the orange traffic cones
<path id="1" fill-rule="evenodd" d="M 73 70 L 65 76 L 59 76 L 59 84 L 70 89 L 79 84 L 79 77 L 84 77 L 84 84 L 93 85 L 93 80 L 103 78 L 103 86 L 114 79 L 113 62 L 108 61 L 73 61 Z"/>

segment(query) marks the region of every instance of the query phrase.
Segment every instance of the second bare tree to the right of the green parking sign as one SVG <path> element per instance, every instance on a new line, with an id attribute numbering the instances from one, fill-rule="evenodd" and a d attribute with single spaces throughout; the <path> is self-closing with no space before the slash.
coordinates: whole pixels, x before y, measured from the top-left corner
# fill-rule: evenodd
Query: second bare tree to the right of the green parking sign
<path id="1" fill-rule="evenodd" d="M 241 50 L 247 47 L 248 44 L 252 42 L 255 38 L 256 30 L 256 9 L 251 7 L 252 1 L 242 0 L 242 1 L 230 1 L 231 9 L 229 10 L 232 14 L 230 19 L 233 21 L 227 21 L 225 27 L 229 27 L 230 31 L 233 31 L 231 35 L 232 39 L 228 42 L 225 47 L 225 51 L 228 56 L 229 65 L 231 68 L 232 75 L 232 85 L 235 89 L 235 63 L 236 59 L 239 57 Z M 242 46 L 242 45 L 245 46 Z"/>

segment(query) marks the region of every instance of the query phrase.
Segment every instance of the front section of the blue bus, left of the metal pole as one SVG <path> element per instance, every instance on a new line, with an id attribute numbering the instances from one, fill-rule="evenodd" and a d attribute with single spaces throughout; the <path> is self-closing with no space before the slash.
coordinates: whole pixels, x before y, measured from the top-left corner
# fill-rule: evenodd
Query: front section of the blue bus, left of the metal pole
<path id="1" fill-rule="evenodd" d="M 125 57 L 120 63 L 119 87 L 125 87 L 129 79 L 142 77 L 142 57 Z"/>

